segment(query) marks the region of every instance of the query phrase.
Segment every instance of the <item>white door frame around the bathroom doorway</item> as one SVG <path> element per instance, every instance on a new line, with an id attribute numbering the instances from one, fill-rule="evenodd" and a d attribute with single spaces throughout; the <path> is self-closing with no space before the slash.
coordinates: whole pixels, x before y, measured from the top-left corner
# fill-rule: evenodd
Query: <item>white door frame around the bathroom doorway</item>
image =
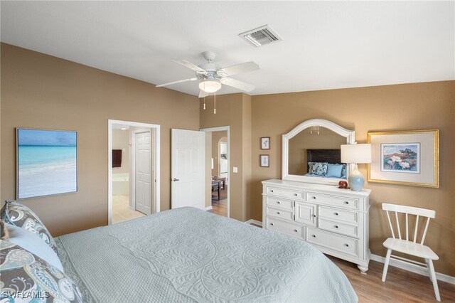
<path id="1" fill-rule="evenodd" d="M 149 124 L 122 120 L 107 120 L 107 224 L 112 224 L 112 127 L 114 124 L 128 125 L 129 127 L 145 127 L 149 128 L 154 138 L 152 145 L 155 163 L 155 181 L 152 182 L 152 191 L 155 201 L 154 210 L 152 213 L 160 211 L 160 126 L 159 124 Z M 152 161 L 153 162 L 153 161 Z M 131 180 L 131 179 L 130 179 Z"/>

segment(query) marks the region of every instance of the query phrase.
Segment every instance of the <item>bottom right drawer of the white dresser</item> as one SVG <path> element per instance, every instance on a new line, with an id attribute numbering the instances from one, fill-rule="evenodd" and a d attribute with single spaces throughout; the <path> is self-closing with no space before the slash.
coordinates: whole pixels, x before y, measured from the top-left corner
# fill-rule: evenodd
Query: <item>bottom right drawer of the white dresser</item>
<path id="1" fill-rule="evenodd" d="M 306 235 L 306 241 L 309 243 L 358 257 L 358 240 L 356 239 L 311 227 L 306 228 Z"/>

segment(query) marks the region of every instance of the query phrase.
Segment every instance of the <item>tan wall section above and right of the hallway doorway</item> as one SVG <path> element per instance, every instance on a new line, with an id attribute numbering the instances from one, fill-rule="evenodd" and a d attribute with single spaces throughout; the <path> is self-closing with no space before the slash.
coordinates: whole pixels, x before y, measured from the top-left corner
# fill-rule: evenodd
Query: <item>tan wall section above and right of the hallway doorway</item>
<path id="1" fill-rule="evenodd" d="M 207 110 L 203 110 L 203 100 L 200 100 L 200 128 L 230 127 L 230 217 L 237 220 L 247 220 L 247 203 L 250 195 L 247 183 L 251 170 L 249 154 L 251 132 L 250 96 L 244 94 L 220 95 L 216 97 L 216 114 L 213 114 L 213 96 L 205 97 Z M 248 105 L 250 104 L 250 105 Z M 249 122 L 250 121 L 250 122 Z M 244 127 L 244 125 L 246 125 Z M 247 138 L 245 142 L 245 137 Z M 245 142 L 245 144 L 244 144 Z M 245 160 L 246 159 L 246 160 Z M 245 167 L 246 165 L 246 167 Z M 238 168 L 238 173 L 232 172 L 232 167 Z"/>

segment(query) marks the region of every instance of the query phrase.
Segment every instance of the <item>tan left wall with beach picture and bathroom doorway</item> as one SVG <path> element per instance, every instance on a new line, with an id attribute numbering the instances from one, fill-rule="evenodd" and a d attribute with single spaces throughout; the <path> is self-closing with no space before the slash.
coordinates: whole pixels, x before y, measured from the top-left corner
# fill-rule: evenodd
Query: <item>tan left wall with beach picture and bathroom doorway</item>
<path id="1" fill-rule="evenodd" d="M 22 202 L 53 235 L 106 225 L 108 119 L 161 125 L 161 210 L 168 209 L 171 128 L 199 129 L 198 98 L 2 43 L 1 201 L 16 196 L 15 127 L 76 130 L 78 192 Z"/>

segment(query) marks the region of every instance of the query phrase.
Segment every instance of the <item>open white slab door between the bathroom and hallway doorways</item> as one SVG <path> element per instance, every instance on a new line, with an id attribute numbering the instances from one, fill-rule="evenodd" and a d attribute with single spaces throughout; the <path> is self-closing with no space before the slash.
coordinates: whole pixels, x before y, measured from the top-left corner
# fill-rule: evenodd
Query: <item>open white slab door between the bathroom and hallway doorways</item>
<path id="1" fill-rule="evenodd" d="M 205 208 L 205 132 L 171 129 L 171 208 Z"/>

